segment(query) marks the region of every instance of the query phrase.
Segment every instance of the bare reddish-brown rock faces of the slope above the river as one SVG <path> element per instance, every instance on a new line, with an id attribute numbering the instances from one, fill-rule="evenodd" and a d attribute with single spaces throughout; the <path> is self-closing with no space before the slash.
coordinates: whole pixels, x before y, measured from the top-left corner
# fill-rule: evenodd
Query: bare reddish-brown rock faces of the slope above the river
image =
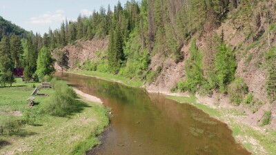
<path id="1" fill-rule="evenodd" d="M 267 11 L 270 10 L 270 16 L 273 17 L 274 11 L 272 10 L 275 5 L 263 4 L 268 6 L 259 6 L 259 8 L 267 8 Z M 233 12 L 239 12 L 239 10 L 233 10 Z M 259 125 L 264 113 L 272 110 L 272 121 L 269 127 L 276 130 L 276 103 L 270 103 L 268 101 L 266 94 L 267 72 L 262 67 L 264 65 L 264 52 L 270 46 L 276 45 L 276 31 L 268 31 L 268 20 L 266 19 L 266 12 L 263 10 L 258 10 L 256 14 L 247 14 L 246 16 L 246 19 L 243 19 L 242 16 L 236 19 L 234 17 L 228 17 L 224 23 L 212 28 L 209 28 L 207 26 L 208 23 L 206 23 L 206 30 L 203 34 L 197 36 L 197 46 L 200 50 L 206 51 L 210 36 L 214 33 L 221 34 L 223 30 L 225 42 L 235 51 L 237 59 L 235 76 L 244 79 L 248 85 L 249 92 L 254 95 L 255 99 L 260 101 L 260 104 L 255 105 L 255 107 L 248 107 L 246 105 L 234 107 L 230 104 L 227 95 L 217 92 L 214 92 L 213 96 L 197 95 L 197 97 L 201 103 L 219 105 L 215 107 L 236 108 L 246 112 L 248 117 L 244 119 L 244 122 L 250 125 Z M 268 32 L 270 36 L 269 43 Z M 175 63 L 173 59 L 165 58 L 160 54 L 161 52 L 157 52 L 157 54 L 151 56 L 149 70 L 156 70 L 161 67 L 161 72 L 159 72 L 152 83 L 146 85 L 148 91 L 169 93 L 177 82 L 185 79 L 184 65 L 189 56 L 189 48 L 190 43 L 184 44 L 181 48 L 184 59 L 179 63 Z M 69 68 L 78 68 L 78 65 L 82 65 L 88 59 L 97 59 L 97 51 L 107 49 L 108 39 L 92 39 L 91 41 L 77 41 L 75 45 L 67 45 L 61 50 L 67 51 L 68 53 Z M 248 57 L 250 57 L 249 61 Z M 56 68 L 60 70 L 58 65 L 56 65 Z M 255 112 L 253 112 L 253 108 L 255 108 Z"/>

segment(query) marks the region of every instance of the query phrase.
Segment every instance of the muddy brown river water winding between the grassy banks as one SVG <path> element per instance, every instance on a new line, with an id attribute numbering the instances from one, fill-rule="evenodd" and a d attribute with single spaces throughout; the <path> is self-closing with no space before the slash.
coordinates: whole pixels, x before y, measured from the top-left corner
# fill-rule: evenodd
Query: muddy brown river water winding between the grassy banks
<path id="1" fill-rule="evenodd" d="M 87 154 L 250 154 L 235 143 L 225 123 L 210 118 L 193 105 L 89 76 L 69 73 L 57 76 L 82 92 L 97 96 L 112 109 L 110 127 L 102 135 L 102 144 Z"/>

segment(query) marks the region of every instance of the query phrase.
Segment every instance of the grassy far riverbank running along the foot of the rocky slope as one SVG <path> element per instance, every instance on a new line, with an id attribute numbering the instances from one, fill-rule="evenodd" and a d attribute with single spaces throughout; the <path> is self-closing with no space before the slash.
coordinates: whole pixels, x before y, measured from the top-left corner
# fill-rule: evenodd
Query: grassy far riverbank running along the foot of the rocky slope
<path id="1" fill-rule="evenodd" d="M 87 71 L 88 72 L 88 71 Z M 82 74 L 86 76 L 97 76 L 97 72 L 92 72 L 90 74 L 86 74 L 86 71 L 75 71 L 71 72 L 75 74 Z M 106 73 L 105 73 L 106 74 Z M 108 75 L 112 76 L 112 75 Z M 105 78 L 101 78 L 101 76 L 97 76 L 99 79 L 108 79 L 108 76 Z M 120 81 L 119 79 L 124 79 L 118 77 L 116 79 L 108 79 L 108 81 L 123 83 L 124 85 L 129 85 L 130 82 L 126 83 L 125 81 Z M 138 87 L 141 87 L 139 85 Z M 148 90 L 150 92 L 150 90 Z M 272 130 L 264 129 L 264 127 L 258 126 L 250 126 L 245 124 L 242 120 L 246 117 L 244 112 L 240 112 L 239 110 L 235 110 L 234 108 L 230 107 L 221 107 L 221 106 L 213 106 L 211 104 L 202 104 L 197 103 L 196 96 L 190 96 L 189 94 L 178 93 L 173 94 L 170 92 L 162 92 L 163 94 L 168 95 L 169 99 L 173 99 L 178 101 L 179 103 L 190 103 L 195 107 L 203 110 L 205 113 L 209 114 L 210 116 L 217 118 L 219 121 L 228 124 L 231 130 L 233 130 L 233 136 L 235 137 L 237 143 L 242 143 L 248 151 L 252 152 L 253 154 L 275 154 L 276 153 L 276 132 Z"/>

